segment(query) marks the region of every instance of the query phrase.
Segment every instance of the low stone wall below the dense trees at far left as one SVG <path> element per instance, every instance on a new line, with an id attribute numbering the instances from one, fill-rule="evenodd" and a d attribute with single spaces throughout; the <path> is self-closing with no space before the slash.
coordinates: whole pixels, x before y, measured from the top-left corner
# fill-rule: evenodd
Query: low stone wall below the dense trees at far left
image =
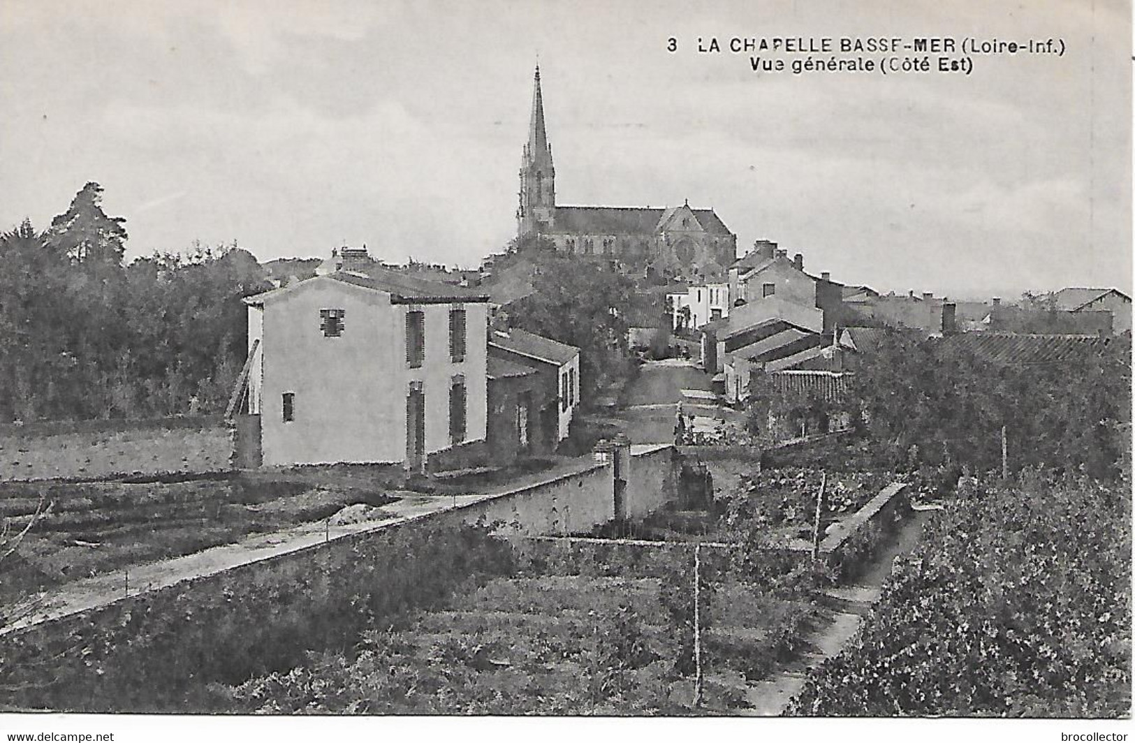
<path id="1" fill-rule="evenodd" d="M 232 456 L 220 417 L 0 427 L 0 480 L 225 472 Z"/>

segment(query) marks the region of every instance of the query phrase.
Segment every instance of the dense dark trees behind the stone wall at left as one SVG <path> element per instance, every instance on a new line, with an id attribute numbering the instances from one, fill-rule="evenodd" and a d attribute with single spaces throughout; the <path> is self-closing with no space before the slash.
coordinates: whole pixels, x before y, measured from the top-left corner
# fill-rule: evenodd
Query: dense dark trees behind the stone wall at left
<path id="1" fill-rule="evenodd" d="M 270 288 L 235 244 L 125 264 L 125 219 L 87 183 L 37 230 L 0 234 L 0 422 L 222 412 L 244 362 L 241 298 Z"/>

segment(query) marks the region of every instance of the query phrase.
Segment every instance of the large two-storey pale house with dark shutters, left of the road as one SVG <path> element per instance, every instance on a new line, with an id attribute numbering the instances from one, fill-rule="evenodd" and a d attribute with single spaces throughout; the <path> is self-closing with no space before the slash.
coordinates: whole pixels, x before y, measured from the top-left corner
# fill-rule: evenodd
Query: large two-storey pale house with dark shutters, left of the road
<path id="1" fill-rule="evenodd" d="M 486 448 L 486 295 L 372 268 L 244 302 L 263 464 L 420 470 Z"/>

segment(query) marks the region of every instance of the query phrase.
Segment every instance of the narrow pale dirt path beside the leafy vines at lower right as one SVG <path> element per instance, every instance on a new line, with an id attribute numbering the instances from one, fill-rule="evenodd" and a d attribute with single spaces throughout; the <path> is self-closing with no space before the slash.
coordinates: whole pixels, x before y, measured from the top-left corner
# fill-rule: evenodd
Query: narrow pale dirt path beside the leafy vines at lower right
<path id="1" fill-rule="evenodd" d="M 824 591 L 834 614 L 827 625 L 808 639 L 813 651 L 772 678 L 753 684 L 747 694 L 750 709 L 741 712 L 742 715 L 777 717 L 784 712 L 789 700 L 804 689 L 808 670 L 839 653 L 855 636 L 871 607 L 878 601 L 881 586 L 891 574 L 891 562 L 897 555 L 914 549 L 925 518 L 926 514 L 923 513 L 915 513 L 908 518 L 857 583 Z"/>

